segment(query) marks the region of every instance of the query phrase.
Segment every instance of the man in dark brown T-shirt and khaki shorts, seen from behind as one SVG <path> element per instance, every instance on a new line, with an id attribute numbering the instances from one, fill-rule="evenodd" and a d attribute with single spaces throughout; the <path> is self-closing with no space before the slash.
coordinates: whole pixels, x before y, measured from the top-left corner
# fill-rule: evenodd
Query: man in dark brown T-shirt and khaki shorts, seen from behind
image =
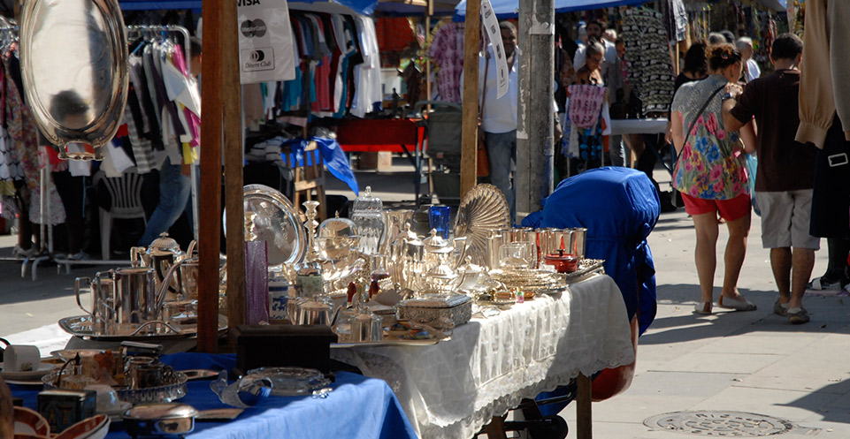
<path id="1" fill-rule="evenodd" d="M 816 149 L 794 141 L 800 125 L 797 65 L 802 49 L 796 35 L 777 37 L 770 57 L 776 71 L 754 79 L 743 93 L 731 87 L 723 109 L 727 130 L 738 130 L 755 117 L 755 200 L 762 208 L 762 246 L 770 248 L 779 290 L 773 309 L 792 323 L 808 322 L 802 298 L 820 246 L 820 239 L 809 234 Z"/>

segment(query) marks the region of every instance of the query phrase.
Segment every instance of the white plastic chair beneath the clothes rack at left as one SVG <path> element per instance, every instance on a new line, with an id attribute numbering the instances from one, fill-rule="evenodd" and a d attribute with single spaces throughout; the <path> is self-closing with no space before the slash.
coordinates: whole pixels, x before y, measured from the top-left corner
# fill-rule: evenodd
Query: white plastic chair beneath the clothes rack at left
<path id="1" fill-rule="evenodd" d="M 111 256 L 110 240 L 113 220 L 142 218 L 145 225 L 148 224 L 144 208 L 142 208 L 142 179 L 135 168 L 125 170 L 121 177 L 116 178 L 106 177 L 102 170 L 98 170 L 95 174 L 95 187 L 98 187 L 99 182 L 103 180 L 103 185 L 106 186 L 111 198 L 109 210 L 100 208 L 100 248 L 101 257 L 104 260 L 109 260 Z"/>

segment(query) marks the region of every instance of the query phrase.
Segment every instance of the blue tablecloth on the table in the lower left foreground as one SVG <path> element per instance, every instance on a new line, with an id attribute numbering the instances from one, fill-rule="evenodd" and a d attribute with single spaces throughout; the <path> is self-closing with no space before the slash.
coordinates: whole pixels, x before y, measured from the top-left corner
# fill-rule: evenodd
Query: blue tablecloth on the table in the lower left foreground
<path id="1" fill-rule="evenodd" d="M 175 369 L 231 369 L 234 355 L 179 353 L 166 355 L 163 361 Z M 230 422 L 196 422 L 190 438 L 415 438 L 402 406 L 387 382 L 362 375 L 338 372 L 333 391 L 325 398 L 269 397 L 247 409 Z M 24 405 L 35 408 L 38 390 L 11 385 Z M 210 390 L 210 381 L 188 382 L 188 395 L 181 403 L 198 410 L 226 408 Z M 107 438 L 126 438 L 123 431 L 112 431 Z"/>

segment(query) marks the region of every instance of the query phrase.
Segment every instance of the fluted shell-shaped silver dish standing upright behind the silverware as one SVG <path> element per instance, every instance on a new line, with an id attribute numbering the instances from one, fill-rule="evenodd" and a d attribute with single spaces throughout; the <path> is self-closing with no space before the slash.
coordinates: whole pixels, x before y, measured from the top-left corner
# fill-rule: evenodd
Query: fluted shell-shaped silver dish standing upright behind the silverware
<path id="1" fill-rule="evenodd" d="M 475 185 L 463 196 L 455 218 L 456 238 L 467 237 L 466 254 L 472 263 L 489 265 L 487 235 L 510 227 L 510 210 L 504 194 L 494 185 Z"/>

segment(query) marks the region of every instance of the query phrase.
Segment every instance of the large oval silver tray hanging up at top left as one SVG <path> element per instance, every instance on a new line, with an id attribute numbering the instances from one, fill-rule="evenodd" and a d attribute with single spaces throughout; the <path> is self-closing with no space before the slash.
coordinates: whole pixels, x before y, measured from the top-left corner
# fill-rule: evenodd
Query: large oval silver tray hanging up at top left
<path id="1" fill-rule="evenodd" d="M 30 0 L 20 23 L 27 106 L 60 158 L 100 158 L 118 131 L 129 65 L 124 19 L 116 0 Z M 95 153 L 67 153 L 71 142 Z"/>

